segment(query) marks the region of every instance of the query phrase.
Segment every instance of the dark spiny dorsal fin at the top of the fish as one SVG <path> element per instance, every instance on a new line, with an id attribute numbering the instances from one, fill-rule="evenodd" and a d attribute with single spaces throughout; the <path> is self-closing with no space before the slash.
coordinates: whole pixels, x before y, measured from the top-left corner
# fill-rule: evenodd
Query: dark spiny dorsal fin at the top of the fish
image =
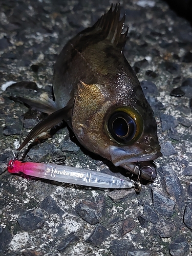
<path id="1" fill-rule="evenodd" d="M 113 4 L 107 13 L 104 13 L 97 22 L 93 25 L 93 29 L 105 34 L 105 38 L 108 38 L 113 45 L 123 49 L 129 27 L 127 27 L 124 34 L 122 30 L 124 27 L 125 14 L 122 19 L 120 17 L 120 4 L 116 4 L 113 10 Z"/>

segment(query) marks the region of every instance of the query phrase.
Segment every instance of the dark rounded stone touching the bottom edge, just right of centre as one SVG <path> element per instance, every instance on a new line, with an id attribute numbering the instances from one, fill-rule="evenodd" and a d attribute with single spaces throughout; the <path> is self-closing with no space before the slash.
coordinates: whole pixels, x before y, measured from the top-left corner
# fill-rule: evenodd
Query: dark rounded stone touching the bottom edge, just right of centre
<path id="1" fill-rule="evenodd" d="M 134 245 L 127 239 L 112 240 L 110 250 L 114 256 L 125 256 L 127 251 L 134 250 Z"/>

